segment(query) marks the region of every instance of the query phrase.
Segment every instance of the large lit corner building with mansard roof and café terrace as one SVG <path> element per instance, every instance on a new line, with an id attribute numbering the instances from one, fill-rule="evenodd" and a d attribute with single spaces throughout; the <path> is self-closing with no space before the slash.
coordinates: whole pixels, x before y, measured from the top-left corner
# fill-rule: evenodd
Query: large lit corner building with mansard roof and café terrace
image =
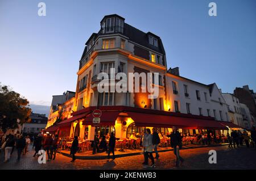
<path id="1" fill-rule="evenodd" d="M 159 36 L 130 26 L 116 14 L 104 16 L 100 25 L 100 30 L 86 41 L 79 61 L 71 117 L 57 124 L 48 121 L 51 126 L 47 132 L 93 140 L 95 132 L 100 135 L 114 132 L 115 137 L 123 138 L 134 131 L 142 133 L 144 128 L 171 132 L 174 125 L 189 134 L 228 129 L 225 125 L 229 121 L 228 106 L 216 83 L 204 85 L 181 77 L 179 68 L 167 70 Z M 115 75 L 121 72 L 135 74 L 127 77 L 124 87 L 135 87 L 138 83 L 139 92 L 98 92 L 101 81 L 98 74 L 113 76 L 110 81 L 115 85 L 121 79 Z M 154 99 L 148 97 L 152 92 L 144 89 L 143 83 L 151 78 L 143 77 L 143 73 L 153 74 L 149 85 L 158 88 Z M 111 85 L 106 89 L 111 89 Z M 97 125 L 93 123 L 96 108 L 102 112 Z"/>

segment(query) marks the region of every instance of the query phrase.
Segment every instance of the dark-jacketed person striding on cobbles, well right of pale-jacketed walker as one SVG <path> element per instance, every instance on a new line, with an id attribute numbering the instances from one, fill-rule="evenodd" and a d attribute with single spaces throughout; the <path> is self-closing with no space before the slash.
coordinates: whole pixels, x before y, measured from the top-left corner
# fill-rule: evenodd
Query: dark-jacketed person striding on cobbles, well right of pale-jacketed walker
<path id="1" fill-rule="evenodd" d="M 180 156 L 182 141 L 180 133 L 176 130 L 176 127 L 172 127 L 171 147 L 174 148 L 174 154 L 176 155 L 176 167 L 179 167 L 179 162 L 183 163 L 184 159 Z"/>

